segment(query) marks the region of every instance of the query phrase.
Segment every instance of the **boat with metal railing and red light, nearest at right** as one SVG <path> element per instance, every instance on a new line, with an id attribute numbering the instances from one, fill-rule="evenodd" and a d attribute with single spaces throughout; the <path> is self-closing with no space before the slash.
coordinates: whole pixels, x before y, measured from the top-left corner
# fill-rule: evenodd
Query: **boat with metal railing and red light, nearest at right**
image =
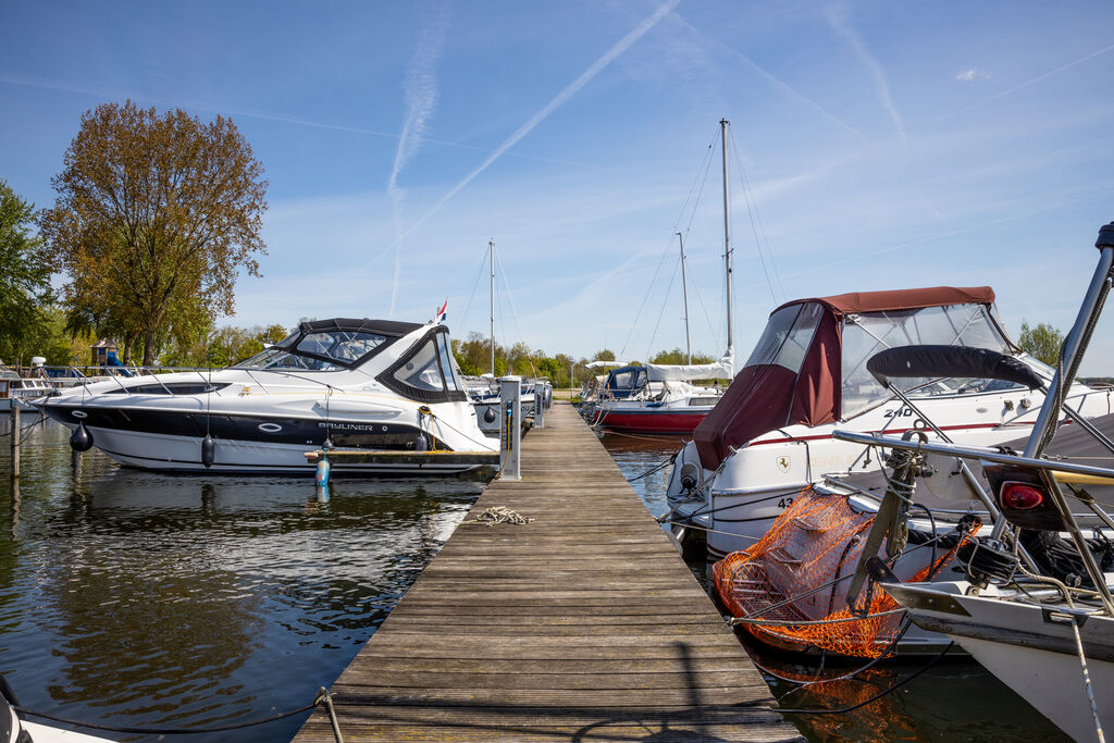
<path id="1" fill-rule="evenodd" d="M 902 457 L 981 468 L 1000 516 L 996 544 L 979 544 L 991 559 L 973 551 L 966 580 L 932 583 L 902 584 L 877 556 L 863 567 L 912 622 L 949 636 L 1076 741 L 1104 740 L 1103 725 L 1114 720 L 1114 574 L 1106 571 L 1114 553 L 1114 439 L 1102 421 L 1075 417 L 1076 426 L 1057 426 L 1114 278 L 1114 223 L 1100 229 L 1096 247 L 1098 265 L 1024 447 L 837 433 Z"/>

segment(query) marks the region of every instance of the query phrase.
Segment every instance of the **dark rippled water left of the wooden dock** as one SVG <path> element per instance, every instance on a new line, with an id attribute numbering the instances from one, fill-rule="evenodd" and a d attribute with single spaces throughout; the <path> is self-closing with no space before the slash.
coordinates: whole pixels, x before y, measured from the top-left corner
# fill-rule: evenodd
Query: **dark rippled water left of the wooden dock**
<path id="1" fill-rule="evenodd" d="M 100 724 L 311 704 L 482 489 L 334 479 L 320 504 L 312 473 L 162 476 L 96 450 L 74 470 L 48 423 L 25 432 L 13 493 L 9 430 L 0 416 L 0 673 L 25 706 Z M 204 740 L 289 740 L 305 716 Z"/>

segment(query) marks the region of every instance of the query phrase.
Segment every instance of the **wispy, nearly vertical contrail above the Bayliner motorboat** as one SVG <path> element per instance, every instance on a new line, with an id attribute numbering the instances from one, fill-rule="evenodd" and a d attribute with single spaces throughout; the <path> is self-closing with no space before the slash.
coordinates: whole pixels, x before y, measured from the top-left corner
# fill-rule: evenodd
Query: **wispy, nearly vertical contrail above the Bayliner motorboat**
<path id="1" fill-rule="evenodd" d="M 391 283 L 391 309 L 388 317 L 394 317 L 394 301 L 399 294 L 399 275 L 402 272 L 402 256 L 399 247 L 402 244 L 400 211 L 405 192 L 399 188 L 399 173 L 421 148 L 426 135 L 426 120 L 437 107 L 437 75 L 434 68 L 441 56 L 444 32 L 449 26 L 449 2 L 443 0 L 434 3 L 430 25 L 422 31 L 418 48 L 410 59 L 407 71 L 405 90 L 407 115 L 402 123 L 402 134 L 399 137 L 398 149 L 394 150 L 394 166 L 387 182 L 387 193 L 391 197 L 391 217 L 394 223 L 394 280 Z"/>

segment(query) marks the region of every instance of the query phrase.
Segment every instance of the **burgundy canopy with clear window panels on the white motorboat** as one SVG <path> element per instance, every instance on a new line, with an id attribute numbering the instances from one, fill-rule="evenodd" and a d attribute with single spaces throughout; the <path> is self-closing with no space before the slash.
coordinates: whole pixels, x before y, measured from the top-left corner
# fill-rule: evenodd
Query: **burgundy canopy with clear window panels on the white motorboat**
<path id="1" fill-rule="evenodd" d="M 693 437 L 705 469 L 785 426 L 848 420 L 890 398 L 867 370 L 879 351 L 960 345 L 1016 353 L 989 286 L 856 292 L 788 302 Z M 909 390 L 927 379 L 893 380 Z"/>

